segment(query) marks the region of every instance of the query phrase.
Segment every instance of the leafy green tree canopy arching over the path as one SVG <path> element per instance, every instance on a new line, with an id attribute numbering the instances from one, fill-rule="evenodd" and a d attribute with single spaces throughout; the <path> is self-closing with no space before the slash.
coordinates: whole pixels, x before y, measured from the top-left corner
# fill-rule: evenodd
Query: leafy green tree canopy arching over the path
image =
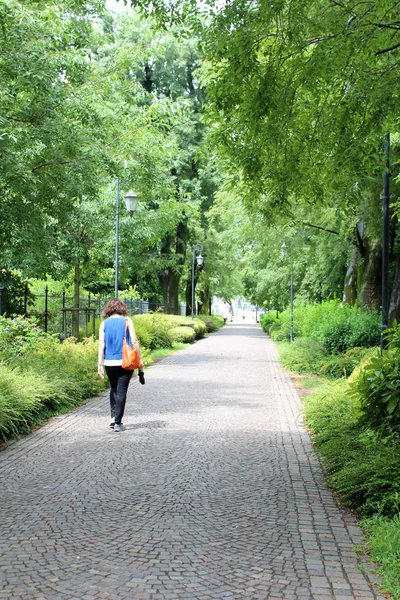
<path id="1" fill-rule="evenodd" d="M 190 312 L 195 286 L 379 308 L 382 175 L 392 148 L 391 281 L 398 245 L 399 2 L 134 0 L 0 8 L 0 253 L 4 269 L 112 289 L 115 190 L 121 285 Z M 142 14 L 142 16 L 140 16 Z"/>

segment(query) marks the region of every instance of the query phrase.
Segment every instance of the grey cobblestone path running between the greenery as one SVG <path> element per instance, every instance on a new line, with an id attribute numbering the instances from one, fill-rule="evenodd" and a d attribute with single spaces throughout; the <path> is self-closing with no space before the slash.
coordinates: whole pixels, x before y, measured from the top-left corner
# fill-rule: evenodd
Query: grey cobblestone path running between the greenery
<path id="1" fill-rule="evenodd" d="M 296 391 L 234 325 L 0 453 L 0 598 L 379 599 L 322 484 Z M 383 599 L 382 599 L 383 600 Z"/>

